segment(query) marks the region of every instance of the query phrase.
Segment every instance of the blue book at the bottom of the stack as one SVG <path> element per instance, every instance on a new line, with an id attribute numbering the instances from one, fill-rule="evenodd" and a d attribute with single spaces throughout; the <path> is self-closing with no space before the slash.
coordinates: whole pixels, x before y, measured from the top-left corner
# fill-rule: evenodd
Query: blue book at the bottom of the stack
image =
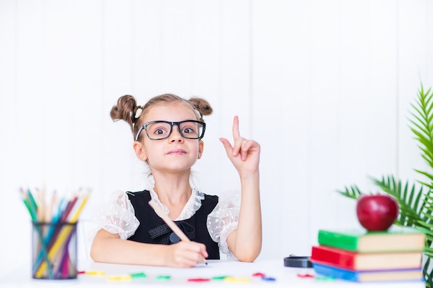
<path id="1" fill-rule="evenodd" d="M 353 282 L 378 281 L 423 281 L 421 269 L 353 271 L 337 267 L 313 263 L 315 273 Z"/>

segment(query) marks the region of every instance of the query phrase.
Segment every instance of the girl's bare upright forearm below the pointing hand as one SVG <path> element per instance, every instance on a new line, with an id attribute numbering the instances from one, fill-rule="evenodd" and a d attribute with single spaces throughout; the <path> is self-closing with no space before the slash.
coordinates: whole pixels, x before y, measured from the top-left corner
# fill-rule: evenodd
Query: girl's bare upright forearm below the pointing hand
<path id="1" fill-rule="evenodd" d="M 241 176 L 241 186 L 238 227 L 228 236 L 227 243 L 239 260 L 252 262 L 261 251 L 259 172 Z"/>

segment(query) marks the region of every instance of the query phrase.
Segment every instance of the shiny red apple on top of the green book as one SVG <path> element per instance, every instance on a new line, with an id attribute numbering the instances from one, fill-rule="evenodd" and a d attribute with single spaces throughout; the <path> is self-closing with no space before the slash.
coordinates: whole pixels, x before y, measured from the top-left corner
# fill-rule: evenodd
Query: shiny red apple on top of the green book
<path id="1" fill-rule="evenodd" d="M 389 195 L 361 195 L 356 204 L 356 215 L 368 231 L 385 231 L 398 216 L 398 203 Z"/>

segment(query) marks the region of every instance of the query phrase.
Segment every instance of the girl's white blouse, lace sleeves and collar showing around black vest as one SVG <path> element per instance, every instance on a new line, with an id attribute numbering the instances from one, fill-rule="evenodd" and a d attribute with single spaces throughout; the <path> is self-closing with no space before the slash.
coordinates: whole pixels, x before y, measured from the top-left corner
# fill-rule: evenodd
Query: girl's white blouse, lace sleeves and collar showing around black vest
<path id="1" fill-rule="evenodd" d="M 168 214 L 168 208 L 160 202 L 155 191 L 149 189 L 149 192 L 151 198 L 158 202 L 164 213 Z M 208 215 L 206 224 L 210 237 L 218 243 L 220 252 L 224 253 L 228 259 L 235 259 L 230 249 L 228 249 L 226 239 L 232 231 L 237 229 L 240 198 L 234 195 L 228 196 L 229 195 L 225 195 L 225 197 L 219 196 L 219 202 Z M 201 200 L 204 198 L 204 193 L 193 189 L 190 199 L 175 221 L 191 218 L 192 215 L 200 209 Z M 110 233 L 118 233 L 123 240 L 133 236 L 140 224 L 135 216 L 133 206 L 129 201 L 127 193 L 122 191 L 111 193 L 107 203 L 104 203 L 96 214 L 96 231 L 103 228 Z"/>

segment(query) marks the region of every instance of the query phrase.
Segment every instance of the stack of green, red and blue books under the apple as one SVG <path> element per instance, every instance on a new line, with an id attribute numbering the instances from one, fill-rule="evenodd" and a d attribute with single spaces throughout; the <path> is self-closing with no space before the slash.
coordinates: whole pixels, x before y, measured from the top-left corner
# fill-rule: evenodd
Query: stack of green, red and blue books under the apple
<path id="1" fill-rule="evenodd" d="M 356 282 L 423 280 L 425 234 L 417 229 L 320 230 L 318 242 L 311 251 L 317 274 Z"/>

